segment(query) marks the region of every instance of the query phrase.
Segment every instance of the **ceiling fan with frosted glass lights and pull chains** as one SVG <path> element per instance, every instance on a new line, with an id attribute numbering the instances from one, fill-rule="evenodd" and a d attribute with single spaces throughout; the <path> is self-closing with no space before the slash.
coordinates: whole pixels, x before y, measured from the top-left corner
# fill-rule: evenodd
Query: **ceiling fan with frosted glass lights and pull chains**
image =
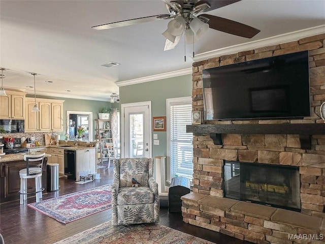
<path id="1" fill-rule="evenodd" d="M 144 23 L 152 20 L 171 19 L 167 30 L 163 33 L 166 37 L 164 50 L 175 48 L 181 36 L 185 33 L 185 43 L 192 44 L 196 42 L 210 27 L 217 31 L 233 34 L 240 37 L 252 38 L 259 29 L 242 24 L 230 19 L 225 19 L 209 14 L 202 14 L 214 9 L 218 9 L 241 0 L 163 0 L 166 3 L 169 14 L 160 14 L 136 19 L 112 22 L 92 26 L 92 28 L 110 29 Z"/>

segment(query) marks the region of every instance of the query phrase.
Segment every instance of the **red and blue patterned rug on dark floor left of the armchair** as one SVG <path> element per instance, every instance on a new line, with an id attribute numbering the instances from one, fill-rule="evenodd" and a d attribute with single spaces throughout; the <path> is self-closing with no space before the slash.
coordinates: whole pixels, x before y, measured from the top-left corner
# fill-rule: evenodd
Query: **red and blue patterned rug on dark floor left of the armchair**
<path id="1" fill-rule="evenodd" d="M 105 185 L 38 203 L 30 203 L 27 206 L 67 224 L 111 208 L 111 192 L 112 186 Z"/>

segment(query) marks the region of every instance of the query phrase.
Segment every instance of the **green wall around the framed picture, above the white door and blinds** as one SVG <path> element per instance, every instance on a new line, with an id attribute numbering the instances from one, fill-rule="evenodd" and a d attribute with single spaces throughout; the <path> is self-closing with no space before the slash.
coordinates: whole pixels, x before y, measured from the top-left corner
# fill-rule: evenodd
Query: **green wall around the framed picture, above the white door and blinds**
<path id="1" fill-rule="evenodd" d="M 191 95 L 191 74 L 119 87 L 120 104 L 151 101 L 152 116 L 166 116 L 166 99 Z M 167 133 L 153 133 L 158 135 L 159 145 L 152 145 L 152 157 L 166 156 Z"/>

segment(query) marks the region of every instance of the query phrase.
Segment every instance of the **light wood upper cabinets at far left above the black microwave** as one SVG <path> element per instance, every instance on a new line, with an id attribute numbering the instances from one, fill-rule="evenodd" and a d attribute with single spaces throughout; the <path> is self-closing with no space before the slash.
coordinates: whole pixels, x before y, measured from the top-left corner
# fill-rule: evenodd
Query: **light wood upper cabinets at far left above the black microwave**
<path id="1" fill-rule="evenodd" d="M 8 89 L 6 93 L 0 97 L 0 119 L 24 119 L 26 93 Z"/>

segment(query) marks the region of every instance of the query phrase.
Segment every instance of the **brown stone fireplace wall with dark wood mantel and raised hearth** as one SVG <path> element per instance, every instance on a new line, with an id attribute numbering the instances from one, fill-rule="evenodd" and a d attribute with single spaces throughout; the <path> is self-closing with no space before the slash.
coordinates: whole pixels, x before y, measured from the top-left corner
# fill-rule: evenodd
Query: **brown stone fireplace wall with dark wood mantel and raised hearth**
<path id="1" fill-rule="evenodd" d="M 325 242 L 325 127 L 319 114 L 325 101 L 324 39 L 321 34 L 193 63 L 192 109 L 203 111 L 203 69 L 309 50 L 311 116 L 188 126 L 194 135 L 194 173 L 193 191 L 182 197 L 184 222 L 254 243 Z M 249 172 L 270 167 L 247 174 L 241 172 L 242 165 Z M 290 179 L 282 173 L 277 179 L 266 178 L 271 168 L 292 170 Z M 239 175 L 244 179 L 238 179 Z M 245 196 L 231 190 L 237 197 L 229 198 L 226 189 L 231 183 L 245 187 Z M 283 207 L 280 198 L 288 206 Z M 309 239 L 289 238 L 300 234 Z"/>

